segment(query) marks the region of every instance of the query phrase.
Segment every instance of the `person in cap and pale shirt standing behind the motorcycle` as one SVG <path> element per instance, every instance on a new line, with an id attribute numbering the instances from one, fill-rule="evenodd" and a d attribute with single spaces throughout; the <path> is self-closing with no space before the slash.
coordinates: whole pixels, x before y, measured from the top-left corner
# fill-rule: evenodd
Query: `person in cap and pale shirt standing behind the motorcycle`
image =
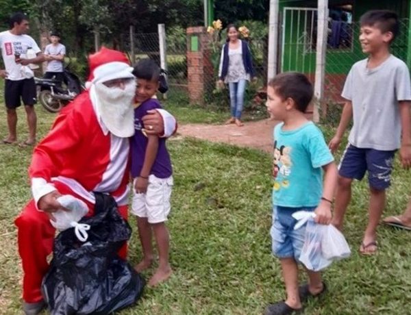
<path id="1" fill-rule="evenodd" d="M 45 60 L 47 61 L 46 73 L 43 79 L 56 79 L 61 82 L 63 77 L 63 62 L 66 55 L 66 47 L 60 43 L 60 35 L 53 31 L 50 34 L 51 44 L 46 46 Z"/>

